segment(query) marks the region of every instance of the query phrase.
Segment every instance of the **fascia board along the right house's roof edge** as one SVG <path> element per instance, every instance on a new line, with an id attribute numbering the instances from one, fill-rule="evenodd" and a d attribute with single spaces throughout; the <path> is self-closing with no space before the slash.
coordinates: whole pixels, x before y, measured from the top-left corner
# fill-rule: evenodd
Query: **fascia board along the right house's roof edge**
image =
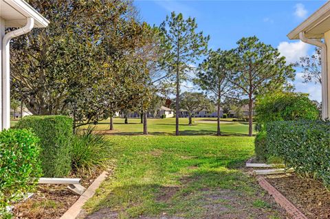
<path id="1" fill-rule="evenodd" d="M 290 40 L 297 40 L 299 39 L 300 32 L 307 32 L 308 30 L 311 30 L 312 28 L 316 27 L 316 25 L 318 25 L 322 21 L 325 21 L 325 19 L 328 19 L 329 17 L 330 17 L 330 1 L 327 1 L 327 3 L 322 5 L 321 8 L 319 8 L 316 12 L 311 14 L 311 16 L 309 16 L 305 21 L 303 21 L 303 23 L 300 23 L 300 25 L 294 28 L 294 30 L 289 32 L 289 34 L 287 34 L 287 37 Z"/>

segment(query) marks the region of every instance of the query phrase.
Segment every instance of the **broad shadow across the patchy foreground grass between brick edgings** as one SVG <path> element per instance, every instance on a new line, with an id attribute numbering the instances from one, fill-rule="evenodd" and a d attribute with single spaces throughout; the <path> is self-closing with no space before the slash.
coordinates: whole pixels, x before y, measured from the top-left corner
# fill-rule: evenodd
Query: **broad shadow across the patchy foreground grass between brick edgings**
<path id="1" fill-rule="evenodd" d="M 103 187 L 107 184 L 111 181 Z M 127 183 L 109 189 L 100 190 L 94 213 L 85 219 L 270 218 L 278 210 L 274 203 L 265 209 L 254 207 L 254 201 L 265 197 L 254 179 L 235 170 L 197 169 L 182 176 L 179 185 Z"/>

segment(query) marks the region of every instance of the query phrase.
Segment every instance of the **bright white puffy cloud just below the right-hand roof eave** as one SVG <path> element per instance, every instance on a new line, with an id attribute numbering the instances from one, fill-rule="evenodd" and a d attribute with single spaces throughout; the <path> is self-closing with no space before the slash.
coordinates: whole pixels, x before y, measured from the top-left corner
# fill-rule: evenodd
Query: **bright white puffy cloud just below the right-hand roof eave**
<path id="1" fill-rule="evenodd" d="M 281 55 L 285 56 L 287 62 L 291 63 L 297 62 L 300 57 L 307 56 L 309 45 L 302 41 L 294 43 L 281 42 L 277 48 Z"/>

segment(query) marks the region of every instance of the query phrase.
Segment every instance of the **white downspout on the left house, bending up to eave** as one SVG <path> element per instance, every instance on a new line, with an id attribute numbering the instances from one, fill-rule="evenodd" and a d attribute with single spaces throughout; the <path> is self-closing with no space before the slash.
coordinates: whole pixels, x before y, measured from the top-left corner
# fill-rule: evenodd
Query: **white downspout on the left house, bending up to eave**
<path id="1" fill-rule="evenodd" d="M 3 36 L 2 48 L 2 97 L 0 95 L 0 102 L 2 102 L 2 124 L 0 129 L 10 128 L 10 40 L 14 37 L 21 36 L 32 30 L 34 27 L 34 19 L 28 18 L 24 27 L 21 27 L 12 32 L 8 32 Z M 2 98 L 2 101 L 1 101 Z"/>

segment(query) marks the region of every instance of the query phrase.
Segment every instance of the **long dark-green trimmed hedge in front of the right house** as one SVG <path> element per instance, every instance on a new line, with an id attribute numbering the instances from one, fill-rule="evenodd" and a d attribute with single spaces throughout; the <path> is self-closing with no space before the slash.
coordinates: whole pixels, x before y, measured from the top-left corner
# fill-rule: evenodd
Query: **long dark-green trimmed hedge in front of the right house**
<path id="1" fill-rule="evenodd" d="M 330 122 L 299 120 L 267 124 L 267 148 L 299 174 L 330 186 Z"/>

